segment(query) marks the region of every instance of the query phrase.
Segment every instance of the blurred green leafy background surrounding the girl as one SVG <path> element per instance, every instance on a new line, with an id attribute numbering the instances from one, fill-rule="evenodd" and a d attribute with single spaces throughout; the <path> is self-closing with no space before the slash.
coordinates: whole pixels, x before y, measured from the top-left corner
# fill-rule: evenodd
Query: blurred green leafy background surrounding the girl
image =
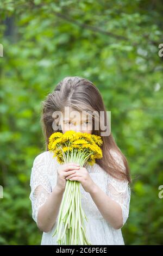
<path id="1" fill-rule="evenodd" d="M 0 1 L 0 244 L 35 245 L 29 181 L 41 101 L 65 76 L 100 90 L 133 183 L 126 245 L 163 244 L 162 1 Z"/>

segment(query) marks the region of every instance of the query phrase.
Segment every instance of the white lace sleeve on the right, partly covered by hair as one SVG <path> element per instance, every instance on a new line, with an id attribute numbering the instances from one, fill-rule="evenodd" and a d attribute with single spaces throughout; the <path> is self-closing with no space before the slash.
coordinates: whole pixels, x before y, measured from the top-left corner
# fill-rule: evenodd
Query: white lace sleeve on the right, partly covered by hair
<path id="1" fill-rule="evenodd" d="M 123 170 L 126 170 L 121 156 L 117 155 L 115 152 L 113 153 L 113 156 L 115 160 L 121 164 Z M 118 180 L 108 173 L 106 175 L 106 194 L 121 206 L 124 225 L 129 215 L 130 186 L 127 180 Z"/>

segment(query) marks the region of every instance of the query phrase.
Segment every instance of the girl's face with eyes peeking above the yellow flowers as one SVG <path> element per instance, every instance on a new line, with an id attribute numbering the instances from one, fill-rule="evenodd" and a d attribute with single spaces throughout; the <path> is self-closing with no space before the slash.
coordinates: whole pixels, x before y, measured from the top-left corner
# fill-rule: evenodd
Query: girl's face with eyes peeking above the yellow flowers
<path id="1" fill-rule="evenodd" d="M 66 131 L 92 133 L 92 119 L 86 112 L 79 112 L 72 108 L 65 109 L 64 114 L 60 118 L 62 133 Z"/>

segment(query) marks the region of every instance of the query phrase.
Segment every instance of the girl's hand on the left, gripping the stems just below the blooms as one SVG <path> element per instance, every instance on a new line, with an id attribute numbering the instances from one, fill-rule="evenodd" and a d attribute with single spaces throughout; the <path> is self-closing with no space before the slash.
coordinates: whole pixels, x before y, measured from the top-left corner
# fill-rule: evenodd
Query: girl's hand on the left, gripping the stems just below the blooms
<path id="1" fill-rule="evenodd" d="M 57 171 L 57 188 L 61 192 L 65 191 L 66 177 L 68 175 L 74 174 L 76 170 L 80 169 L 80 165 L 76 163 L 64 163 L 58 168 Z"/>

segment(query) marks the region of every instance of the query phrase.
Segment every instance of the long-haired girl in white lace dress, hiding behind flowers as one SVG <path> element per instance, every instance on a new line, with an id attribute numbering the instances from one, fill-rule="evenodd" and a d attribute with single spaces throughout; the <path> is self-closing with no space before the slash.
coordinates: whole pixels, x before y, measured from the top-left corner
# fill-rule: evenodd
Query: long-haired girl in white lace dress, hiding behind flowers
<path id="1" fill-rule="evenodd" d="M 102 136 L 103 157 L 93 166 L 86 164 L 59 164 L 57 157 L 48 151 L 48 139 L 55 131 L 67 130 L 101 136 L 101 126 L 95 129 L 95 118 L 90 126 L 86 115 L 70 119 L 65 107 L 82 113 L 106 111 L 102 96 L 92 82 L 81 77 L 66 77 L 43 102 L 42 127 L 46 139 L 45 152 L 34 159 L 30 178 L 32 216 L 43 231 L 41 245 L 57 245 L 52 237 L 57 227 L 59 208 L 66 180 L 80 181 L 82 208 L 87 217 L 86 232 L 92 245 L 124 245 L 121 228 L 129 215 L 130 174 L 126 157 L 111 135 Z M 64 119 L 54 120 L 53 113 L 60 111 Z M 62 120 L 62 122 L 61 122 Z M 99 121 L 100 122 L 100 121 Z M 82 129 L 81 129 L 82 123 Z M 57 128 L 59 125 L 59 129 Z"/>

